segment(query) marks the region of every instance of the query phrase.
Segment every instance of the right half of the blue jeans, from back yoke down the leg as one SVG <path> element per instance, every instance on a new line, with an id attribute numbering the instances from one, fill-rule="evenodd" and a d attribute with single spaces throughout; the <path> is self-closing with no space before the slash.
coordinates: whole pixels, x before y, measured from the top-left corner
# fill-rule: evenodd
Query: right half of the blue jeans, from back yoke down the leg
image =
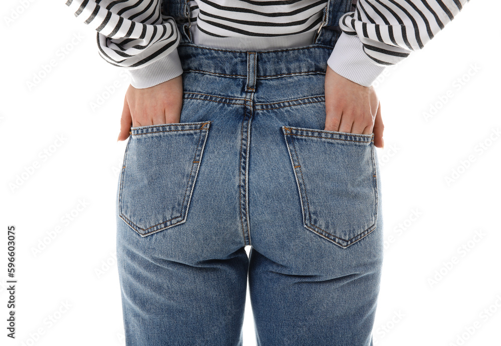
<path id="1" fill-rule="evenodd" d="M 320 84 L 309 76 L 287 81 L 300 90 Z M 289 91 L 263 86 L 276 98 L 268 91 Z M 258 346 L 371 346 L 383 261 L 371 137 L 324 131 L 321 94 L 259 108 L 248 273 Z"/>

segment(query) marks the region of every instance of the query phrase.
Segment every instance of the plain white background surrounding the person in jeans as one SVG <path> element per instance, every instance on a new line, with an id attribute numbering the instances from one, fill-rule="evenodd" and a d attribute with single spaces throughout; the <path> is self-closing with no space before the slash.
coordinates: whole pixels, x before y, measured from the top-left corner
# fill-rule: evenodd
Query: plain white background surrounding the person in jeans
<path id="1" fill-rule="evenodd" d="M 35 0 L 21 13 L 20 4 L 4 0 L 0 10 L 0 343 L 124 345 L 115 196 L 126 142 L 116 138 L 129 81 L 64 1 Z M 374 84 L 386 239 L 375 344 L 500 344 L 500 13 L 499 2 L 467 4 Z M 17 234 L 15 340 L 6 336 L 8 225 Z"/>

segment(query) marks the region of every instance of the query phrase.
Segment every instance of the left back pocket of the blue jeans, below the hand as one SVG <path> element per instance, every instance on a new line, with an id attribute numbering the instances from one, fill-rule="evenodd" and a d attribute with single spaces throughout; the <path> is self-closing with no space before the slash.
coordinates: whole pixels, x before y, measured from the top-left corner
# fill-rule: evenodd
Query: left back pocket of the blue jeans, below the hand
<path id="1" fill-rule="evenodd" d="M 132 127 L 119 216 L 141 236 L 186 221 L 211 121 Z"/>

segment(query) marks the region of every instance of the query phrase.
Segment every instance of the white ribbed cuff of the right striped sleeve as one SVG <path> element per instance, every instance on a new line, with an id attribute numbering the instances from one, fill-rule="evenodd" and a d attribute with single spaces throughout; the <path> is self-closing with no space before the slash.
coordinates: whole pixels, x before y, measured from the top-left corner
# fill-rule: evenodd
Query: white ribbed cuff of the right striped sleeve
<path id="1" fill-rule="evenodd" d="M 327 60 L 327 65 L 338 75 L 370 87 L 386 66 L 376 63 L 365 54 L 358 36 L 342 33 Z"/>

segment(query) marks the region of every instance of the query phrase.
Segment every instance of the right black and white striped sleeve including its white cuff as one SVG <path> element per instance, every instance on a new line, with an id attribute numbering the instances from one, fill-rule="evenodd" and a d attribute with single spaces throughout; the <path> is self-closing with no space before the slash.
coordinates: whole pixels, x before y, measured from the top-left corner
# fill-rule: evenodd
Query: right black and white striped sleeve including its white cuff
<path id="1" fill-rule="evenodd" d="M 369 87 L 387 66 L 420 50 L 469 0 L 354 0 L 327 65 Z"/>

